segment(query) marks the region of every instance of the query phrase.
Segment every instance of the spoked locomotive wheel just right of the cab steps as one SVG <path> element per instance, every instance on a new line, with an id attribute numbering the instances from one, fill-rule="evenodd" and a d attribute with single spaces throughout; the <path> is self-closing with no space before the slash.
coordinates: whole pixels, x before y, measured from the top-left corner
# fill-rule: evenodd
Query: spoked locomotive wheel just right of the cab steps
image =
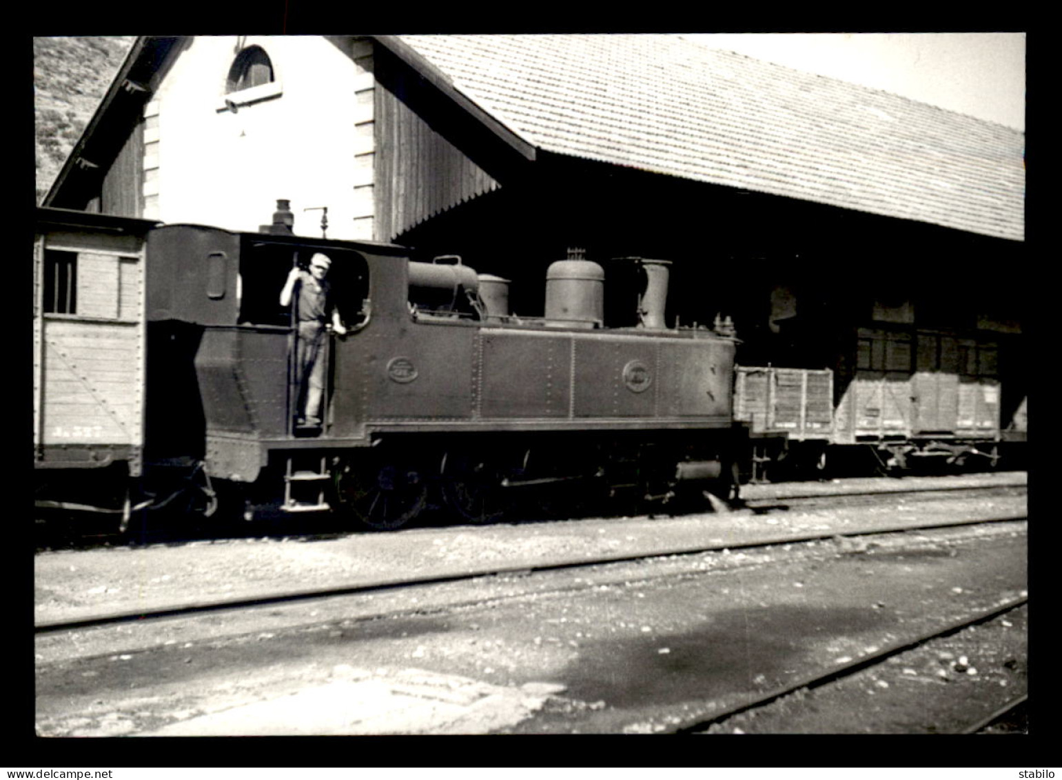
<path id="1" fill-rule="evenodd" d="M 415 470 L 394 463 L 364 469 L 347 465 L 336 475 L 336 492 L 346 511 L 360 522 L 393 530 L 421 513 L 428 486 Z"/>

